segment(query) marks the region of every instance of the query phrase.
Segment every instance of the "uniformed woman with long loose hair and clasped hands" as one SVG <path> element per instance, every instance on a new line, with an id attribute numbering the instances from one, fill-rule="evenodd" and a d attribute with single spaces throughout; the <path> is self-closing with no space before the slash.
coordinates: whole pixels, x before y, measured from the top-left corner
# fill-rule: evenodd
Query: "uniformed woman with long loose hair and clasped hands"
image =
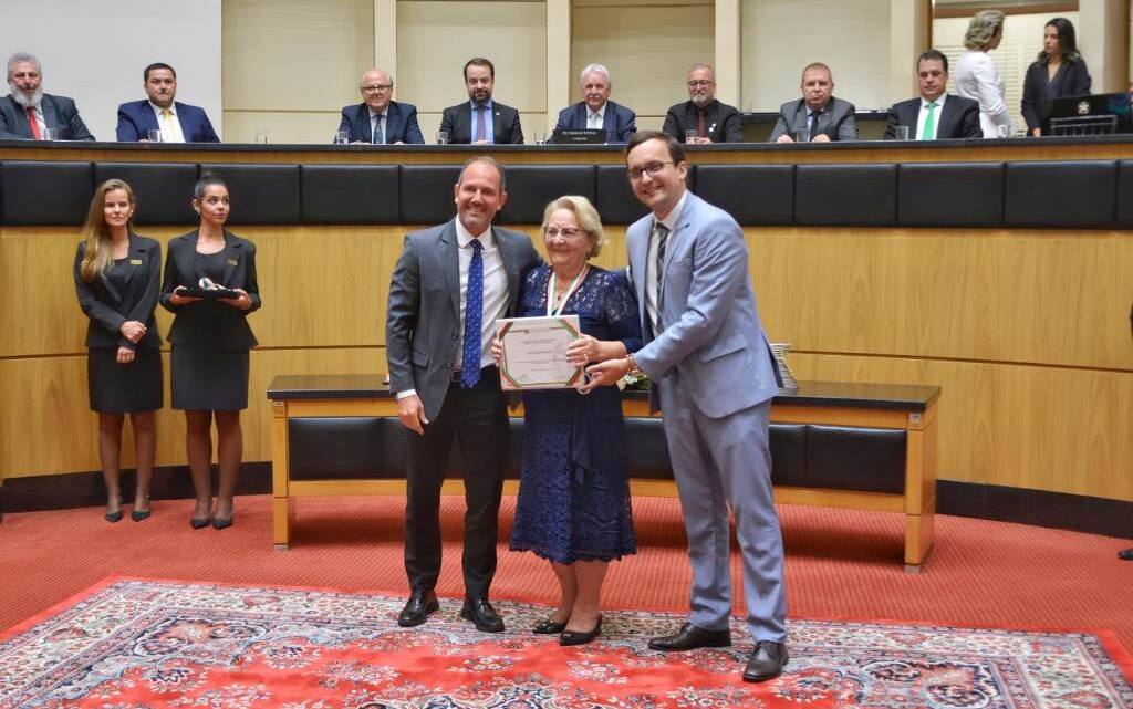
<path id="1" fill-rule="evenodd" d="M 91 410 L 99 413 L 99 459 L 107 482 L 107 521 L 122 519 L 119 470 L 122 424 L 130 415 L 137 486 L 130 518 L 150 516 L 156 450 L 154 411 L 162 405 L 161 338 L 154 323 L 161 246 L 134 233 L 134 190 L 107 180 L 94 190 L 75 254 L 75 291 L 91 318 L 86 330 Z"/>

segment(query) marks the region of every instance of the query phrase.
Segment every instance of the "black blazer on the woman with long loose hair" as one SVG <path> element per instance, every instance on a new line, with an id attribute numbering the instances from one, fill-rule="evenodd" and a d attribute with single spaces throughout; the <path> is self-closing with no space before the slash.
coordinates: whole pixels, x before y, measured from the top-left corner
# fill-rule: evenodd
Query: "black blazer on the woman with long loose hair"
<path id="1" fill-rule="evenodd" d="M 107 276 L 87 283 L 79 277 L 79 266 L 86 254 L 86 242 L 79 242 L 75 254 L 75 293 L 78 305 L 91 322 L 86 327 L 86 347 L 161 347 L 153 311 L 157 307 L 161 285 L 161 245 L 147 237 L 130 234 L 126 271 L 126 288 L 118 290 Z M 126 321 L 137 321 L 146 332 L 138 342 L 130 342 L 119 330 Z"/>

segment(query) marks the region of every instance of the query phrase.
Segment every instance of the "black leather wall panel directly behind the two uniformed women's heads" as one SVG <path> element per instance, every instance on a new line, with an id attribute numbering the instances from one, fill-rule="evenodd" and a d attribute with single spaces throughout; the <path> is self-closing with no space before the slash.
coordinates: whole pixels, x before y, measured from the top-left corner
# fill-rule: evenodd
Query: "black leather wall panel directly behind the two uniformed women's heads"
<path id="1" fill-rule="evenodd" d="M 111 178 L 126 180 L 138 199 L 134 223 L 196 224 L 193 211 L 193 187 L 197 182 L 196 164 L 156 162 L 96 162 L 94 186 Z"/>

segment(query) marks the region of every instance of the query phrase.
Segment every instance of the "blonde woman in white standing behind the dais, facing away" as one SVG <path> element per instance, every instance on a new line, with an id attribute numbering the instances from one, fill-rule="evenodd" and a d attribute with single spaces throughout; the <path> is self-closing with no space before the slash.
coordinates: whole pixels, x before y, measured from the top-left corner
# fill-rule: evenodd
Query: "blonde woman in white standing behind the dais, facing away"
<path id="1" fill-rule="evenodd" d="M 1003 41 L 1004 17 L 999 10 L 977 12 L 964 33 L 968 51 L 956 62 L 956 93 L 979 102 L 985 138 L 999 137 L 1000 126 L 1006 127 L 1008 136 L 1014 134 L 1003 77 L 995 61 L 988 57 L 988 52 Z"/>

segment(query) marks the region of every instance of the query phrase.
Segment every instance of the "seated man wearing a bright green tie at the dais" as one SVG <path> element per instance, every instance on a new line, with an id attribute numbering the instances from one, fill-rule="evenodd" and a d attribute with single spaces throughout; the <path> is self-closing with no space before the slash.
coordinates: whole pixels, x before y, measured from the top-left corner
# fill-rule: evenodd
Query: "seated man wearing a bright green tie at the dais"
<path id="1" fill-rule="evenodd" d="M 945 93 L 948 85 L 948 58 L 930 49 L 917 60 L 917 84 L 921 95 L 894 103 L 889 109 L 886 138 L 897 137 L 897 126 L 905 126 L 910 140 L 982 138 L 980 104 Z"/>

